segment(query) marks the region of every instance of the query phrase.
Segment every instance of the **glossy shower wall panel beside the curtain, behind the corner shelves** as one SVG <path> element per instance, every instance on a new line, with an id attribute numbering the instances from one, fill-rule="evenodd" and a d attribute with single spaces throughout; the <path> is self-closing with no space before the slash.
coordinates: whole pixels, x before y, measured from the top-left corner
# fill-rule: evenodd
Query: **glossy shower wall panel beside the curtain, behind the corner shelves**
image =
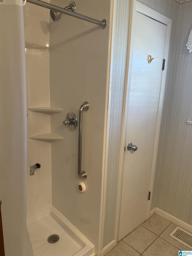
<path id="1" fill-rule="evenodd" d="M 48 2 L 48 1 L 47 1 Z M 27 107 L 50 106 L 49 96 L 49 10 L 26 3 Z M 50 114 L 27 111 L 28 137 L 51 131 Z M 30 176 L 30 166 L 41 164 Z M 51 205 L 51 143 L 28 139 L 27 214 Z"/>

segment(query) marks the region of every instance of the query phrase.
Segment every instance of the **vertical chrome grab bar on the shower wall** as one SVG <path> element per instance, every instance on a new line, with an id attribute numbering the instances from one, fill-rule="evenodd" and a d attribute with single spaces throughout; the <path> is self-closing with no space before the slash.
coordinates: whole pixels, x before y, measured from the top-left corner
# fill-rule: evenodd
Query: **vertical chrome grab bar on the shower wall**
<path id="1" fill-rule="evenodd" d="M 88 111 L 89 104 L 87 101 L 84 101 L 81 104 L 79 109 L 79 138 L 78 138 L 78 176 L 81 179 L 87 179 L 87 173 L 81 171 L 81 160 L 82 160 L 82 117 L 83 117 L 83 110 Z"/>

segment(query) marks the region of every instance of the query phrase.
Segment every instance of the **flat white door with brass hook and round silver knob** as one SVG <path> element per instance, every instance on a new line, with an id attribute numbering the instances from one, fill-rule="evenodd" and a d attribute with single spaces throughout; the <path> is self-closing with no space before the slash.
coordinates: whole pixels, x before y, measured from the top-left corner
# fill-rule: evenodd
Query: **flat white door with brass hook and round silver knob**
<path id="1" fill-rule="evenodd" d="M 146 220 L 166 32 L 166 25 L 135 12 L 119 240 Z M 128 151 L 129 142 L 137 151 Z"/>

